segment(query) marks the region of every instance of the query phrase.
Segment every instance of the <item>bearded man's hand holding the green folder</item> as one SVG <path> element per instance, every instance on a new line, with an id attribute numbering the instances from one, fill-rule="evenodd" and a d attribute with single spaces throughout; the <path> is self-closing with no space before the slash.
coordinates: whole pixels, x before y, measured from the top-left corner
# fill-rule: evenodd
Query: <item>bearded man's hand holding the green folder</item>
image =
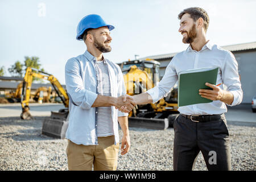
<path id="1" fill-rule="evenodd" d="M 213 84 L 209 84 L 209 83 L 205 83 L 205 85 L 209 86 L 213 90 L 200 89 L 199 94 L 201 97 L 208 98 L 209 100 L 212 100 L 212 101 L 217 101 L 222 99 L 222 97 L 224 96 L 224 91 L 220 87 Z"/>

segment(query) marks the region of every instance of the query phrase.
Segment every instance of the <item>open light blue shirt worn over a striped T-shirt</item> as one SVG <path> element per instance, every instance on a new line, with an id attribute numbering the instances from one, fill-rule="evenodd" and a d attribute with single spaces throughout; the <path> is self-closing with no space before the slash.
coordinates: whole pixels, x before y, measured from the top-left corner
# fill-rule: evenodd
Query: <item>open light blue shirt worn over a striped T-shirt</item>
<path id="1" fill-rule="evenodd" d="M 65 65 L 65 82 L 69 96 L 69 125 L 66 138 L 76 144 L 97 145 L 96 107 L 92 107 L 97 94 L 96 57 L 88 51 L 72 57 Z M 105 59 L 108 64 L 111 96 L 126 94 L 121 68 Z M 119 142 L 118 117 L 127 116 L 112 106 L 115 144 Z"/>

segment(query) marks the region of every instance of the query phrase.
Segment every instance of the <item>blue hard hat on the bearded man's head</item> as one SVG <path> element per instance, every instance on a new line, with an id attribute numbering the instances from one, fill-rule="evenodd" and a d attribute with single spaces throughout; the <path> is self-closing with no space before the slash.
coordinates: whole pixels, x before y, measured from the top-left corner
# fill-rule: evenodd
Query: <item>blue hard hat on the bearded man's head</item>
<path id="1" fill-rule="evenodd" d="M 81 19 L 81 21 L 77 26 L 76 39 L 82 40 L 82 34 L 84 34 L 84 31 L 87 30 L 88 28 L 100 28 L 104 26 L 107 26 L 109 28 L 109 31 L 114 29 L 114 26 L 110 24 L 106 24 L 100 15 L 96 15 L 96 14 L 87 15 Z"/>

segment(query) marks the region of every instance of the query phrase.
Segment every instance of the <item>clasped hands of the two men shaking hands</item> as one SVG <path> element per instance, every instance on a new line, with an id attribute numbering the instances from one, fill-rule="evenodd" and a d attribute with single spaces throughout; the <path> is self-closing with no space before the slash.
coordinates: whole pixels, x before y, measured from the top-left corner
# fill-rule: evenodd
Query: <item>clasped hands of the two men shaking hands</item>
<path id="1" fill-rule="evenodd" d="M 116 97 L 114 100 L 115 109 L 118 109 L 123 113 L 129 113 L 131 110 L 133 110 L 135 105 L 134 98 L 129 95 Z"/>

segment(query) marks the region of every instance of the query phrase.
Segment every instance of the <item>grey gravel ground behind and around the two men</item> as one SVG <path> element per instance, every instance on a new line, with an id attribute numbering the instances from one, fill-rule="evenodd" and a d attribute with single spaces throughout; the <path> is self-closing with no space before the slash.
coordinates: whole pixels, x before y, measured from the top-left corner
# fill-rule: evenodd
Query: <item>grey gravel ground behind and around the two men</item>
<path id="1" fill-rule="evenodd" d="M 41 134 L 44 117 L 34 121 L 0 118 L 1 170 L 67 170 L 66 139 Z M 246 125 L 246 126 L 245 126 Z M 228 125 L 233 170 L 255 170 L 255 124 Z M 119 130 L 122 137 L 122 131 Z M 174 129 L 130 128 L 129 153 L 118 157 L 117 170 L 172 170 Z M 207 170 L 200 153 L 194 170 Z"/>

